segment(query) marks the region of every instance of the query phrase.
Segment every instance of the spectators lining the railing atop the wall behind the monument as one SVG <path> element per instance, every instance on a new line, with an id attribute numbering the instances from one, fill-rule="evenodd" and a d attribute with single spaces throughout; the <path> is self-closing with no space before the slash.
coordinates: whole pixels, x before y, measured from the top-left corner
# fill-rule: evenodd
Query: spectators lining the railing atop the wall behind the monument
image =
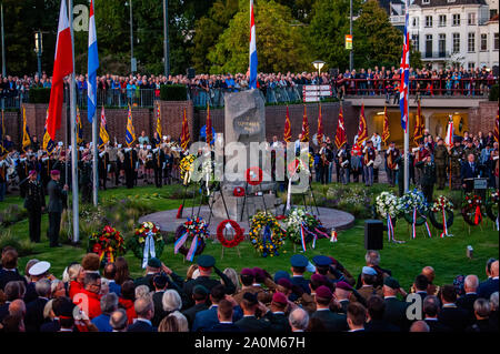
<path id="1" fill-rule="evenodd" d="M 7 75 L 1 78 L 0 98 L 16 98 L 26 95 L 31 88 L 50 88 L 51 77 L 46 72 L 41 77 L 33 75 Z M 76 77 L 77 88 L 80 95 L 86 95 L 87 77 L 79 74 Z M 69 82 L 69 78 L 67 78 Z M 302 84 L 329 84 L 332 89 L 332 95 L 343 98 L 346 94 L 361 95 L 386 95 L 389 101 L 391 98 L 398 100 L 400 73 L 399 68 L 374 67 L 369 69 L 346 70 L 343 73 L 337 69 L 322 72 L 301 73 L 259 73 L 258 88 L 264 94 L 268 89 L 294 88 Z M 410 68 L 410 93 L 422 95 L 484 95 L 488 94 L 491 85 L 498 83 L 498 77 L 491 70 L 483 68 L 464 69 L 427 69 Z M 178 74 L 166 77 L 129 74 L 117 75 L 107 73 L 98 78 L 98 90 L 100 95 L 122 93 L 126 98 L 132 98 L 137 90 L 151 90 L 154 98 L 160 97 L 160 87 L 162 84 L 183 84 L 187 88 L 197 91 L 197 94 L 208 93 L 212 89 L 221 91 L 242 91 L 248 89 L 248 74 L 227 73 L 227 74 Z"/>

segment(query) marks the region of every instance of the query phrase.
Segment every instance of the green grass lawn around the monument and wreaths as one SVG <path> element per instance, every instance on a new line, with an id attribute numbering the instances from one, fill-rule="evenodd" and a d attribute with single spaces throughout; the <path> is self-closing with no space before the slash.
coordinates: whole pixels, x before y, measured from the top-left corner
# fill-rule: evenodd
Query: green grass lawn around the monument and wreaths
<path id="1" fill-rule="evenodd" d="M 333 186 L 336 184 L 331 184 Z M 317 195 L 326 193 L 327 189 L 321 185 L 313 185 Z M 382 185 L 376 185 L 377 191 L 381 191 L 384 188 Z M 158 193 L 158 198 L 148 199 L 148 195 Z M 450 195 L 449 191 L 444 191 L 442 194 Z M 434 193 L 437 196 L 438 193 Z M 450 195 L 451 196 L 451 195 Z M 154 211 L 177 209 L 179 208 L 182 199 L 181 186 L 163 186 L 157 189 L 154 186 L 139 186 L 133 190 L 127 190 L 123 188 L 112 189 L 108 191 L 100 191 L 100 198 L 102 200 L 113 199 L 119 202 L 121 199 L 131 198 L 140 199 L 141 203 L 147 204 L 148 209 Z M 453 199 L 457 196 L 453 195 Z M 22 200 L 17 196 L 8 196 L 4 203 L 0 203 L 0 210 L 7 208 L 9 204 L 16 203 L 22 205 Z M 189 201 L 190 205 L 191 201 Z M 123 216 L 126 218 L 126 216 Z M 87 244 L 81 246 L 63 245 L 59 249 L 50 249 L 48 246 L 48 239 L 46 236 L 46 230 L 48 227 L 48 216 L 42 215 L 42 243 L 29 244 L 29 255 L 20 257 L 19 267 L 23 271 L 26 263 L 30 259 L 47 260 L 52 264 L 51 271 L 56 276 L 61 276 L 63 269 L 72 261 L 81 261 L 86 253 Z M 339 232 L 339 242 L 330 243 L 328 240 L 319 240 L 317 242 L 316 250 L 308 247 L 306 255 L 309 259 L 317 254 L 331 255 L 338 259 L 354 276 L 357 276 L 361 267 L 364 265 L 364 225 L 363 219 L 357 219 L 352 229 Z M 28 220 L 21 220 L 9 227 L 6 227 L 11 237 L 14 237 L 19 242 L 24 244 L 29 243 L 28 235 Z M 452 237 L 440 239 L 439 234 L 441 230 L 432 231 L 432 239 L 429 239 L 423 234 L 424 227 L 419 226 L 417 239 L 411 240 L 411 227 L 402 219 L 398 220 L 396 226 L 396 239 L 403 240 L 403 244 L 384 243 L 381 253 L 381 266 L 392 270 L 392 274 L 397 277 L 401 285 L 408 289 L 414 276 L 418 275 L 420 270 L 426 265 L 432 265 L 436 270 L 436 283 L 451 283 L 454 276 L 459 274 L 477 274 L 481 280 L 484 275 L 486 261 L 499 254 L 499 239 L 498 232 L 494 229 L 494 224 L 491 221 L 486 221 L 482 226 L 470 227 L 464 225 L 462 218 L 456 215 L 454 223 L 449 230 Z M 384 234 L 387 236 L 387 234 Z M 171 239 L 171 237 L 169 237 Z M 466 256 L 466 249 L 471 245 L 474 250 L 473 259 L 470 260 Z M 266 267 L 270 273 L 274 273 L 278 270 L 290 270 L 290 256 L 294 254 L 294 247 L 290 242 L 287 242 L 281 250 L 281 254 L 278 257 L 261 257 L 254 252 L 252 245 L 246 241 L 239 246 L 241 259 L 238 256 L 236 249 L 224 250 L 223 257 L 221 259 L 221 246 L 212 241 L 207 242 L 204 254 L 211 254 L 217 260 L 217 266 L 221 270 L 226 267 L 234 267 L 240 271 L 246 266 L 260 266 Z M 297 252 L 300 251 L 299 246 L 296 247 Z M 129 267 L 132 276 L 140 276 L 143 274 L 143 270 L 140 267 L 140 260 L 136 259 L 132 252 L 126 254 L 126 259 L 129 261 Z M 186 274 L 189 262 L 184 262 L 182 255 L 173 254 L 173 244 L 169 242 L 161 255 L 161 260 L 170 267 L 176 270 L 178 274 Z"/>

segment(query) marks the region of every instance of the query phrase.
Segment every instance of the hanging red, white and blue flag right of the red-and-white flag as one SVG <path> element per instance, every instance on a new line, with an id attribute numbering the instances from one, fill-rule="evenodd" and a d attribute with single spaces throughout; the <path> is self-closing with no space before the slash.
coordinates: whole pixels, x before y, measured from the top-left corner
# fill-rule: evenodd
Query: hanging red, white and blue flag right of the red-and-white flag
<path id="1" fill-rule="evenodd" d="M 87 65 L 89 74 L 87 82 L 87 118 L 92 123 L 97 107 L 97 70 L 99 68 L 93 0 L 90 1 L 89 9 L 89 57 Z"/>

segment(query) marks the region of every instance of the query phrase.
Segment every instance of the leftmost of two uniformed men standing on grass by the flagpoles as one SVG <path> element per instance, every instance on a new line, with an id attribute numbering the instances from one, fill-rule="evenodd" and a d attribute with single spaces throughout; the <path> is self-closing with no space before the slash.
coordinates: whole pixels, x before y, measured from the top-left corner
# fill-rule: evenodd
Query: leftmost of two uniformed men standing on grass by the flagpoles
<path id="1" fill-rule="evenodd" d="M 40 242 L 41 213 L 46 208 L 43 188 L 37 180 L 37 171 L 29 172 L 29 181 L 24 198 L 24 208 L 28 210 L 29 230 L 31 242 Z"/>

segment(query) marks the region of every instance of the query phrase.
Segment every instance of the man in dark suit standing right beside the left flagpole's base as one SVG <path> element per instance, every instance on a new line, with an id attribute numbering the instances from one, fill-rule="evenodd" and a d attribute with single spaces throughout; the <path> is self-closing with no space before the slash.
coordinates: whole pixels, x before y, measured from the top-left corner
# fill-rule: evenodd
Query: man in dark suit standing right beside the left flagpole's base
<path id="1" fill-rule="evenodd" d="M 63 199 L 67 196 L 68 184 L 61 188 L 59 180 L 61 173 L 59 170 L 52 170 L 50 172 L 51 181 L 47 184 L 47 191 L 49 194 L 49 206 L 47 211 L 49 212 L 49 231 L 48 236 L 51 247 L 60 246 L 59 244 L 59 230 L 61 226 L 61 214 Z"/>

